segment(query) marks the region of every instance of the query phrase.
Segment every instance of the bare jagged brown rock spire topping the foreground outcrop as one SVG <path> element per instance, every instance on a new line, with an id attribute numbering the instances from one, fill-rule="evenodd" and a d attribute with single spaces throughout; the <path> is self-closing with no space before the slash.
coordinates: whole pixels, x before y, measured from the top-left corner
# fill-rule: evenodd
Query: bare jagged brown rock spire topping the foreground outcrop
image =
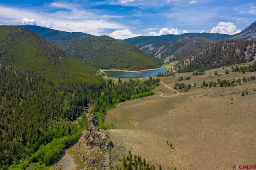
<path id="1" fill-rule="evenodd" d="M 90 147 L 99 147 L 105 151 L 114 147 L 110 138 L 99 130 L 98 119 L 95 115 L 90 115 L 86 123 L 86 133 L 84 135 L 87 145 Z"/>

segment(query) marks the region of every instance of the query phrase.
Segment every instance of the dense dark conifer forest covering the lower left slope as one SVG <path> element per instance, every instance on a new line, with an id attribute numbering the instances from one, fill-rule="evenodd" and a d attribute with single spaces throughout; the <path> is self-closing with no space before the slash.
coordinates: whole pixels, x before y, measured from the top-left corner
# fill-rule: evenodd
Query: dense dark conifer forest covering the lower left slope
<path id="1" fill-rule="evenodd" d="M 54 138 L 75 134 L 72 125 L 101 84 L 53 84 L 38 74 L 0 64 L 0 162 L 8 167 Z M 74 142 L 71 142 L 74 143 Z M 57 154 L 58 156 L 58 154 Z"/>

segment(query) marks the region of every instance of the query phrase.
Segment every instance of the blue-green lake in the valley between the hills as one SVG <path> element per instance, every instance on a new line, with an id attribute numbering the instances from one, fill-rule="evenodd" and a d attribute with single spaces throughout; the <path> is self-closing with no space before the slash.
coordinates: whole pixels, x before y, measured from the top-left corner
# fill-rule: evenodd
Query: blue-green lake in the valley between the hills
<path id="1" fill-rule="evenodd" d="M 141 71 L 141 72 L 125 72 L 125 71 L 105 71 L 105 74 L 108 77 L 120 77 L 120 78 L 145 78 L 152 76 L 154 77 L 158 72 L 165 72 L 169 68 L 167 67 L 162 67 L 156 70 L 146 70 L 146 71 Z"/>

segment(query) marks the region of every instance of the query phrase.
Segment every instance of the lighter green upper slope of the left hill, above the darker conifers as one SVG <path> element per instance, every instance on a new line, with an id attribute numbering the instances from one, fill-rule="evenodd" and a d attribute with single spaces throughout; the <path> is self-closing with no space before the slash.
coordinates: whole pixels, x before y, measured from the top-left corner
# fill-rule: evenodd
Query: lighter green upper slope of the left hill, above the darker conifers
<path id="1" fill-rule="evenodd" d="M 68 56 L 24 27 L 0 26 L 0 49 L 0 61 L 52 81 L 99 81 L 94 76 L 96 68 Z"/>

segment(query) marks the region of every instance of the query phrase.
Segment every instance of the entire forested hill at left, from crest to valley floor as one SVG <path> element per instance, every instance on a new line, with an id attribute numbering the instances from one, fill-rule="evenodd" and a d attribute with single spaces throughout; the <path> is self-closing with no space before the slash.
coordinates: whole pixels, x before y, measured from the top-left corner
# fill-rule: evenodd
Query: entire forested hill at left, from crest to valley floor
<path id="1" fill-rule="evenodd" d="M 84 126 L 71 120 L 100 95 L 104 82 L 96 71 L 24 27 L 0 26 L 0 169 L 61 138 L 41 156 L 52 164 L 78 140 Z"/>

